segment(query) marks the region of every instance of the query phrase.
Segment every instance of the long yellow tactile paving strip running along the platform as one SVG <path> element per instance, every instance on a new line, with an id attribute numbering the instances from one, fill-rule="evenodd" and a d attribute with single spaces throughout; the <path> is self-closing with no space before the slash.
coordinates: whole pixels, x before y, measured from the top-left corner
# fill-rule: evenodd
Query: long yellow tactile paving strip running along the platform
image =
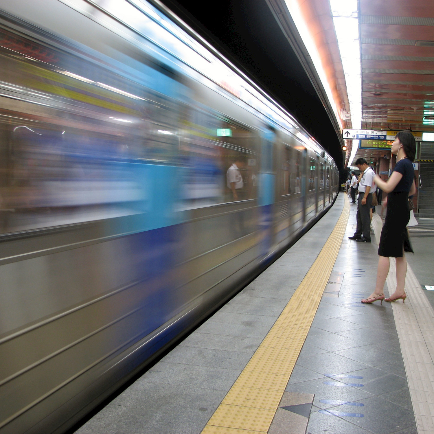
<path id="1" fill-rule="evenodd" d="M 266 433 L 329 281 L 349 217 L 349 202 L 315 262 L 202 434 Z"/>

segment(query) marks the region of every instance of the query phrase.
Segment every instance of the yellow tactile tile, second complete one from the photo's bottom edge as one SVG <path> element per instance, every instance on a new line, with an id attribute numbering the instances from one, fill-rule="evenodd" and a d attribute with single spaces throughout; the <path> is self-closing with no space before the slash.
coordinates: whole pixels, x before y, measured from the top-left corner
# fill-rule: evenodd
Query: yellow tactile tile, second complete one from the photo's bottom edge
<path id="1" fill-rule="evenodd" d="M 276 410 L 282 395 L 282 390 L 258 389 L 234 385 L 227 393 L 222 403 Z"/>

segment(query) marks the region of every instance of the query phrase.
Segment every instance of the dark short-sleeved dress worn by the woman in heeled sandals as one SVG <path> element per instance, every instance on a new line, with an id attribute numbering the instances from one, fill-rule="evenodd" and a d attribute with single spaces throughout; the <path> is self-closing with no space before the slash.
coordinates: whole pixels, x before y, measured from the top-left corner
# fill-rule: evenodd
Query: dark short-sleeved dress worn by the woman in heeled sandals
<path id="1" fill-rule="evenodd" d="M 413 163 L 408 158 L 403 158 L 396 163 L 393 171 L 401 173 L 402 178 L 394 191 L 387 195 L 387 214 L 381 230 L 378 254 L 402 258 L 403 251 L 414 253 L 407 230 L 410 220 L 408 192 L 414 181 Z"/>

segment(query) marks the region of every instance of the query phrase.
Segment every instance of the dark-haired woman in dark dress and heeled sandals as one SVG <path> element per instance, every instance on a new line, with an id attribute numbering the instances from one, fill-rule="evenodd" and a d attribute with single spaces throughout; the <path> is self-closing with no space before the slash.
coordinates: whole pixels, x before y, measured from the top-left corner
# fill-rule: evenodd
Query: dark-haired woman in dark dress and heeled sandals
<path id="1" fill-rule="evenodd" d="M 407 224 L 410 219 L 408 196 L 416 192 L 414 184 L 413 160 L 416 153 L 416 142 L 409 131 L 400 131 L 392 143 L 392 154 L 396 155 L 396 165 L 387 181 L 375 175 L 375 184 L 382 191 L 388 193 L 387 214 L 385 224 L 381 230 L 378 244 L 378 270 L 375 291 L 362 303 L 373 303 L 385 299 L 383 289 L 389 273 L 389 257 L 396 258 L 396 290 L 386 301 L 407 297 L 404 292 L 405 275 L 407 274 L 407 261 L 404 252 L 413 252 L 408 239 Z"/>

